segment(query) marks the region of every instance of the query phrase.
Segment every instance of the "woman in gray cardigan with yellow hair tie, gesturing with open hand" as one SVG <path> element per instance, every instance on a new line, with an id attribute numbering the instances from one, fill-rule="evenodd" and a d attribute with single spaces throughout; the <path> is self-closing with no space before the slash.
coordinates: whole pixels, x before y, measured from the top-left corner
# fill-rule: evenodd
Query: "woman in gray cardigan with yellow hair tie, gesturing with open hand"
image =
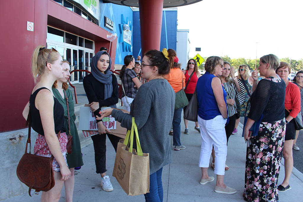
<path id="1" fill-rule="evenodd" d="M 171 163 L 171 147 L 168 132 L 175 109 L 175 91 L 164 75 L 170 70 L 168 52 L 151 50 L 142 60 L 143 84 L 131 104 L 130 113 L 116 109 L 106 109 L 102 119 L 112 114 L 122 127 L 132 127 L 132 117 L 138 127 L 140 145 L 144 153 L 149 153 L 149 193 L 144 194 L 145 201 L 163 201 L 162 167 Z"/>

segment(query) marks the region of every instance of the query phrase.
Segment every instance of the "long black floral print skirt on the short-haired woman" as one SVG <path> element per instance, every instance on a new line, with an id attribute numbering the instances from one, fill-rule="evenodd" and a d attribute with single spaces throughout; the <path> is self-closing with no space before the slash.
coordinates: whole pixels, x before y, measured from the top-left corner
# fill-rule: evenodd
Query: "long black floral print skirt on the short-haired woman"
<path id="1" fill-rule="evenodd" d="M 257 136 L 250 138 L 246 151 L 246 201 L 279 201 L 277 182 L 285 138 L 285 118 L 261 122 Z"/>

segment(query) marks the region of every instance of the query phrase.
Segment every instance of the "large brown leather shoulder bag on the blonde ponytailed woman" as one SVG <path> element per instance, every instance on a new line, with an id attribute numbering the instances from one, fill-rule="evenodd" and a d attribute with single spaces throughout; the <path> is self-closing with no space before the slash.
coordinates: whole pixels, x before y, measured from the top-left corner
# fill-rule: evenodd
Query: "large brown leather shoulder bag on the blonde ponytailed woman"
<path id="1" fill-rule="evenodd" d="M 35 189 L 35 194 L 39 191 L 48 191 L 55 186 L 54 171 L 52 168 L 53 156 L 43 157 L 31 154 L 31 110 L 29 109 L 26 125 L 28 124 L 28 138 L 25 146 L 25 154 L 19 161 L 17 167 L 17 177 L 29 187 L 28 194 Z M 60 138 L 60 131 L 58 139 Z M 29 153 L 27 145 L 29 143 Z"/>

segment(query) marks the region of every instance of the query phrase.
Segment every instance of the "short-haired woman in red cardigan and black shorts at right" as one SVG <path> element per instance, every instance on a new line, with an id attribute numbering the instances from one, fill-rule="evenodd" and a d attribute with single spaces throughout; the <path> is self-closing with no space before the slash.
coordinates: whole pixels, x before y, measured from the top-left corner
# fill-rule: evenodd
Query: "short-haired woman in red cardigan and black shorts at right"
<path id="1" fill-rule="evenodd" d="M 285 177 L 278 186 L 278 191 L 283 192 L 290 190 L 289 178 L 294 165 L 292 158 L 292 145 L 296 135 L 295 119 L 301 110 L 301 95 L 298 86 L 288 81 L 287 77 L 291 72 L 291 67 L 287 62 L 280 62 L 280 66 L 276 69 L 276 73 L 285 81 L 285 119 L 286 132 L 285 142 L 283 146 Z"/>

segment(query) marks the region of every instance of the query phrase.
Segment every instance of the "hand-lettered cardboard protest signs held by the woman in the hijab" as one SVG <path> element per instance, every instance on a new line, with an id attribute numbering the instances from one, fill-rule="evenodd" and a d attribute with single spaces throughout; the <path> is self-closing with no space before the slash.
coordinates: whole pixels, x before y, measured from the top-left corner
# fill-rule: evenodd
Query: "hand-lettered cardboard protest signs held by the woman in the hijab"
<path id="1" fill-rule="evenodd" d="M 101 110 L 108 109 L 109 107 L 102 107 Z M 122 110 L 128 113 L 125 110 Z M 85 104 L 84 107 L 80 107 L 79 114 L 79 127 L 78 130 L 82 130 L 84 137 L 90 137 L 98 134 L 98 124 L 94 113 L 91 111 L 90 107 Z M 103 125 L 111 131 L 111 134 L 118 137 L 124 138 L 127 132 L 126 128 L 121 127 L 120 123 L 115 120 L 112 116 L 105 117 L 102 119 Z"/>

